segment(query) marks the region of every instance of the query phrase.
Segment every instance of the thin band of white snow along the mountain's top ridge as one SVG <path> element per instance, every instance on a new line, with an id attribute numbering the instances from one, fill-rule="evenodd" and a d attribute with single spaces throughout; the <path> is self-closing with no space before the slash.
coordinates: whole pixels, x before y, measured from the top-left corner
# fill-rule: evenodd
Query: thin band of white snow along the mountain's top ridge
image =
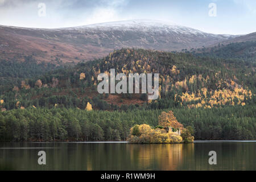
<path id="1" fill-rule="evenodd" d="M 60 32 L 62 30 L 76 30 L 76 31 L 133 31 L 133 32 L 155 32 L 160 34 L 173 34 L 173 35 L 191 35 L 191 36 L 200 36 L 200 37 L 216 37 L 216 38 L 224 38 L 229 39 L 236 37 L 234 35 L 218 35 L 218 34 L 210 34 L 207 32 L 203 32 L 200 30 L 196 30 L 194 28 L 189 28 L 185 26 L 181 26 L 179 24 L 164 22 L 162 20 L 124 20 L 117 22 L 106 22 L 106 23 L 97 23 L 97 24 L 89 24 L 86 26 L 79 27 L 67 27 L 67 28 L 26 28 L 26 27 L 13 27 L 13 26 L 1 26 L 0 29 L 3 28 L 13 28 L 15 30 L 30 30 L 30 31 L 47 31 L 47 32 Z"/>

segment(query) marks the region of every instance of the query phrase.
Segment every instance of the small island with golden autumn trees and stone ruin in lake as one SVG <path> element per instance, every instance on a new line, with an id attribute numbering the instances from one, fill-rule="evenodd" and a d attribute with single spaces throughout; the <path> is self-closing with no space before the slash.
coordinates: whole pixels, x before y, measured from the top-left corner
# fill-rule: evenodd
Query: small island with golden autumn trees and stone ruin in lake
<path id="1" fill-rule="evenodd" d="M 158 118 L 158 126 L 135 125 L 130 129 L 127 139 L 131 143 L 192 143 L 193 127 L 179 123 L 172 111 L 162 112 Z"/>

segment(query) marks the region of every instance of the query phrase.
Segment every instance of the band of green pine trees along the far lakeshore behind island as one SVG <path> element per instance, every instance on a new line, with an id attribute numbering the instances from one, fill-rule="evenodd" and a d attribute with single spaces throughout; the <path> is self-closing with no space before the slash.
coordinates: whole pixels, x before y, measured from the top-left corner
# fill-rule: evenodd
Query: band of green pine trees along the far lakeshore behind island
<path id="1" fill-rule="evenodd" d="M 255 140 L 255 109 L 254 105 L 173 111 L 184 127 L 195 129 L 196 140 Z M 9 110 L 0 113 L 0 139 L 5 142 L 126 140 L 134 125 L 157 126 L 162 111 L 168 110 Z"/>

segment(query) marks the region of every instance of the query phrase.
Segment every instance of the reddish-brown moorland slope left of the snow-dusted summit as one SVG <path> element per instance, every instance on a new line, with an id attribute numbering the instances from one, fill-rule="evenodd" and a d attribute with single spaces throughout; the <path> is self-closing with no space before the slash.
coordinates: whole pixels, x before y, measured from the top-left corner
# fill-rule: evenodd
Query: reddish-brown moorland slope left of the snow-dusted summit
<path id="1" fill-rule="evenodd" d="M 38 62 L 77 63 L 110 52 L 108 48 L 81 44 L 76 39 L 79 39 L 76 32 L 1 26 L 0 59 L 24 61 L 27 56 L 32 56 Z"/>

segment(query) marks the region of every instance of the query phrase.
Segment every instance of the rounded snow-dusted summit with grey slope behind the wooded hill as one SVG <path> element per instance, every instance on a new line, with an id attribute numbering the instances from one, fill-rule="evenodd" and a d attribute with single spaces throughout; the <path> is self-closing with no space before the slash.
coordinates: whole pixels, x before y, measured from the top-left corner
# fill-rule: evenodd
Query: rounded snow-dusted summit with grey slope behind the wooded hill
<path id="1" fill-rule="evenodd" d="M 141 47 L 164 51 L 210 46 L 234 37 L 233 35 L 209 34 L 159 20 L 126 20 L 61 30 L 79 31 L 81 34 L 89 32 L 101 46 Z"/>

